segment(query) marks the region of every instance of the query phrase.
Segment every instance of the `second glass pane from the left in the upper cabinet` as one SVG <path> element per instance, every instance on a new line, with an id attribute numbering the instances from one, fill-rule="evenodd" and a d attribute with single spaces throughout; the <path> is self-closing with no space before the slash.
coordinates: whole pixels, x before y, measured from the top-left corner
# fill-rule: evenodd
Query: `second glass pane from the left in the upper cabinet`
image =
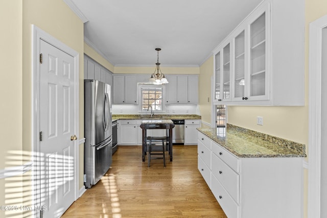
<path id="1" fill-rule="evenodd" d="M 223 99 L 229 99 L 229 87 L 230 87 L 230 51 L 229 43 L 223 49 Z"/>

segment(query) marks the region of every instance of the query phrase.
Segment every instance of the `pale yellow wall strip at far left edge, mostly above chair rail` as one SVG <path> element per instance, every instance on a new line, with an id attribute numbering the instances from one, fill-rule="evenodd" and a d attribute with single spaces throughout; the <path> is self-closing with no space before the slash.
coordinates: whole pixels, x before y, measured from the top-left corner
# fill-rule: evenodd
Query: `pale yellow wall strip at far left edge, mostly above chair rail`
<path id="1" fill-rule="evenodd" d="M 8 166 L 8 151 L 22 148 L 22 0 L 0 1 L 0 20 L 0 169 L 4 169 Z M 0 180 L 0 205 L 6 203 L 6 183 Z M 5 217 L 5 211 L 0 211 L 0 217 Z"/>

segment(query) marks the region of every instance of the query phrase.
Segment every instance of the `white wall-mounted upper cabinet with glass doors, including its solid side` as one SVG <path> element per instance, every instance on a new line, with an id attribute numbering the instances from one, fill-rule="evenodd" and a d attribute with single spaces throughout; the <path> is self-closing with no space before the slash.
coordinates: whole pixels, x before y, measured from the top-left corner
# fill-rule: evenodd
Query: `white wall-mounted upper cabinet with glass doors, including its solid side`
<path id="1" fill-rule="evenodd" d="M 214 103 L 304 105 L 304 14 L 298 0 L 254 9 L 214 50 Z"/>

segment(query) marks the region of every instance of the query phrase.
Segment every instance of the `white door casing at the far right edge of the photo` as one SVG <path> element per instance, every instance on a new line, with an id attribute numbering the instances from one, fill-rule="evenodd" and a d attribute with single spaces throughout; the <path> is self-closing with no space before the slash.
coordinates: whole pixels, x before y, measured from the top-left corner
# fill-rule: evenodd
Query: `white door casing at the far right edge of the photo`
<path id="1" fill-rule="evenodd" d="M 322 29 L 327 15 L 310 23 L 309 29 L 309 180 L 308 217 L 320 217 L 321 176 L 321 58 Z"/>

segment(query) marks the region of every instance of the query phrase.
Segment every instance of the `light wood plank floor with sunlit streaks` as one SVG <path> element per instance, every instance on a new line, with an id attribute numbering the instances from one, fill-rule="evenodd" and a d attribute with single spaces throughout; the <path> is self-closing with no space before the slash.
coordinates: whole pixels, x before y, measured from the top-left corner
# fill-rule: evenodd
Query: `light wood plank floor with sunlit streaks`
<path id="1" fill-rule="evenodd" d="M 197 169 L 197 146 L 173 146 L 166 155 L 142 162 L 141 146 L 119 146 L 107 174 L 62 217 L 227 218 Z"/>

